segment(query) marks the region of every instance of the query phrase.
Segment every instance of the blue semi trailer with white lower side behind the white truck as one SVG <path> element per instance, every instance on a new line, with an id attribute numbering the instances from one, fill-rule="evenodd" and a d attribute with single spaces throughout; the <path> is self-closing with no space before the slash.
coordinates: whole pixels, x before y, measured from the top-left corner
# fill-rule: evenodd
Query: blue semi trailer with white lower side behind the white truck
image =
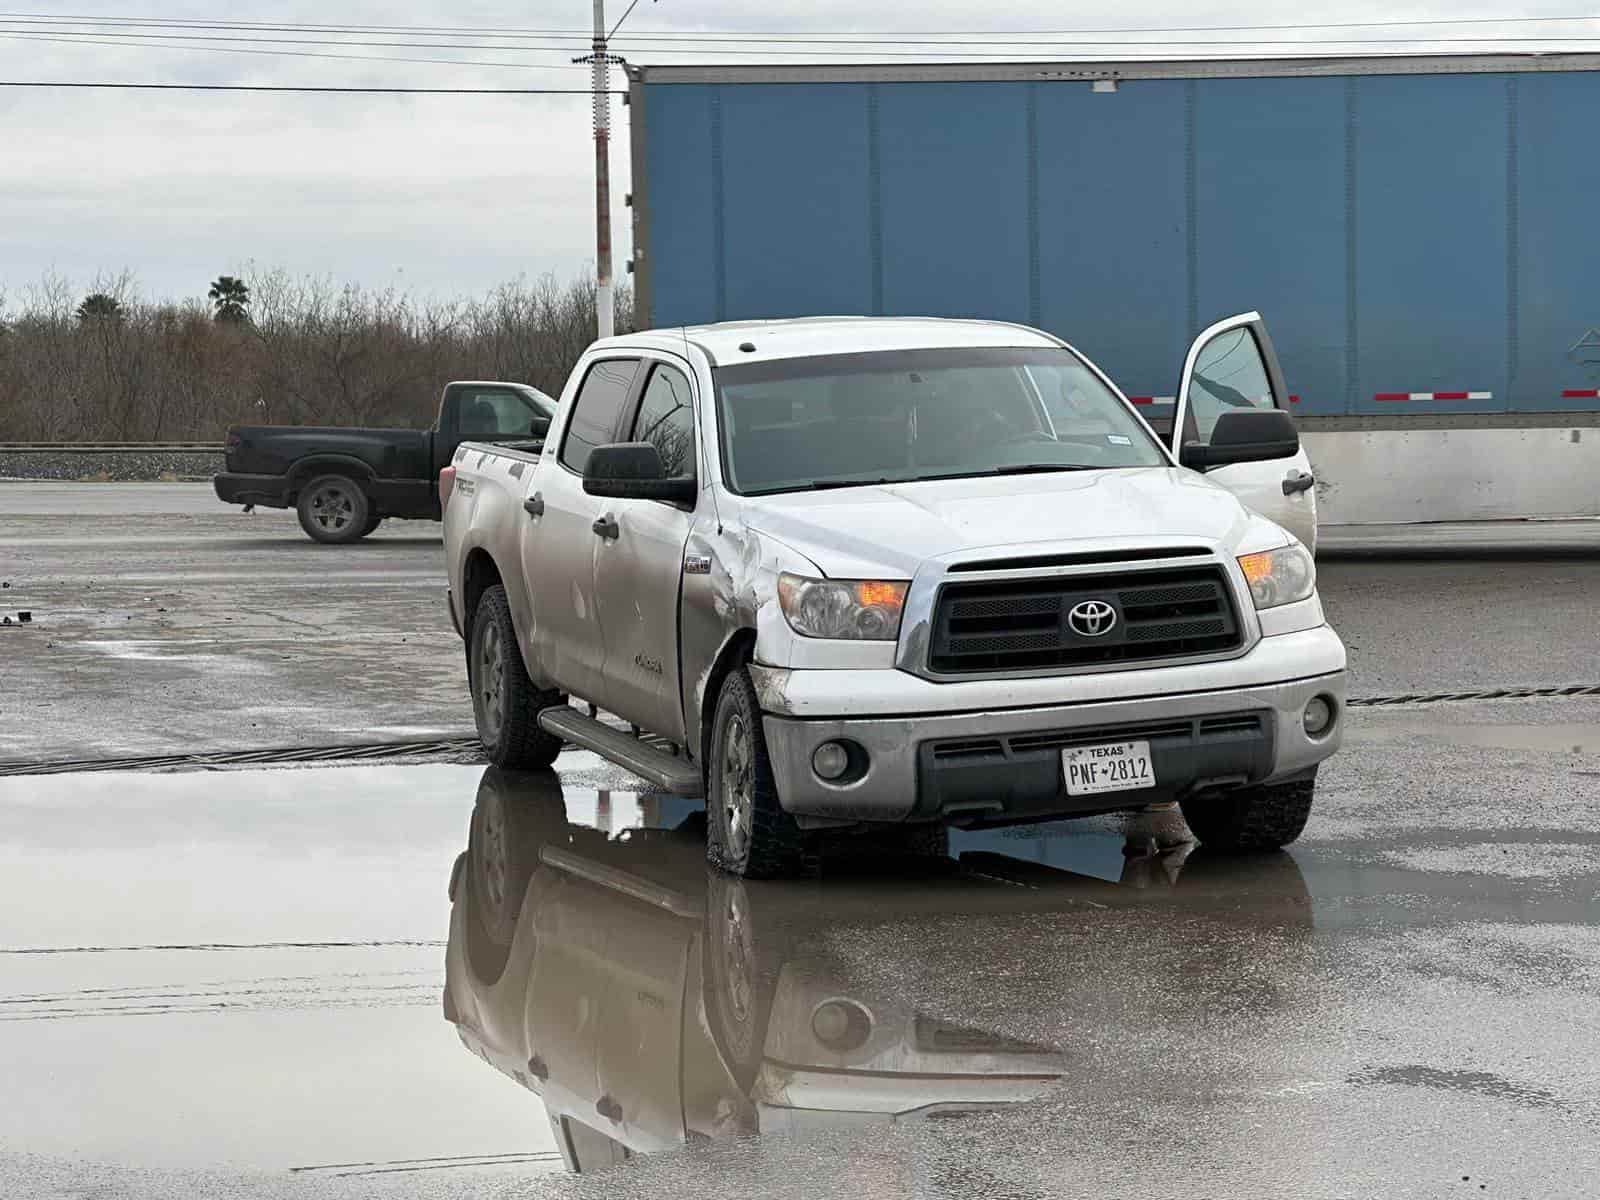
<path id="1" fill-rule="evenodd" d="M 1600 514 L 1600 56 L 630 67 L 642 325 L 1259 309 L 1328 522 Z"/>

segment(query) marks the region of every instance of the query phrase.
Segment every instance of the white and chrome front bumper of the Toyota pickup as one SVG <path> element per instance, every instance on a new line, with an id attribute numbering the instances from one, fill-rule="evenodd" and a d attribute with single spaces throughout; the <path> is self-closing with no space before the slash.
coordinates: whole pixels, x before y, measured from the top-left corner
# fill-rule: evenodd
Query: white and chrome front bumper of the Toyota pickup
<path id="1" fill-rule="evenodd" d="M 1253 662 L 1254 659 L 1254 662 Z M 877 709 L 882 685 L 899 696 L 902 672 L 805 670 L 754 667 L 763 698 L 763 730 L 782 806 L 798 816 L 842 821 L 933 821 L 984 824 L 1040 821 L 1182 798 L 1240 784 L 1304 776 L 1339 749 L 1344 731 L 1344 646 L 1325 626 L 1262 638 L 1227 664 L 1200 669 L 1221 686 L 1162 691 L 1194 672 L 1170 667 L 1122 672 L 1118 690 L 1142 694 L 1101 698 L 1106 675 L 1056 680 L 1056 704 L 1005 706 L 1000 680 L 938 685 L 912 680 L 949 702 L 973 690 L 982 707 L 928 710 L 902 699 L 898 712 Z M 885 678 L 888 675 L 901 675 Z M 1251 675 L 1254 680 L 1251 680 Z M 1037 680 L 1029 680 L 1029 693 Z M 832 693 L 838 707 L 824 710 Z M 1074 696 L 1074 693 L 1077 696 Z M 1152 694 L 1154 693 L 1154 694 Z M 1314 696 L 1334 702 L 1338 720 L 1320 738 L 1302 723 Z M 851 741 L 866 754 L 866 770 L 843 784 L 826 782 L 811 755 L 826 741 Z M 1066 746 L 1149 741 L 1157 787 L 1098 795 L 1067 795 L 1061 773 Z"/>

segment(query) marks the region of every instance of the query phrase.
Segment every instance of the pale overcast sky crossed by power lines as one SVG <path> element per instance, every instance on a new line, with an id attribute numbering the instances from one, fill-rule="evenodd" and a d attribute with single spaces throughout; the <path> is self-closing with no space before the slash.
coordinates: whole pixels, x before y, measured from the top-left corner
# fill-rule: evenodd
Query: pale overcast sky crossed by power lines
<path id="1" fill-rule="evenodd" d="M 230 5 L 195 0 L 106 3 L 104 0 L 13 0 L 0 18 L 0 80 L 190 82 L 371 86 L 549 86 L 584 88 L 587 70 L 565 66 L 571 51 L 507 50 L 512 32 L 584 30 L 586 0 L 478 0 L 445 3 Z M 616 21 L 626 0 L 608 0 Z M 1437 0 L 1432 5 L 1331 0 L 1315 10 L 1328 22 L 1571 14 L 1586 5 L 1509 0 Z M 86 24 L 48 29 L 29 18 L 150 18 L 162 21 L 254 21 L 272 24 L 366 24 L 482 27 L 493 48 L 370 48 L 234 42 L 234 51 L 472 59 L 477 64 L 374 62 L 264 53 L 219 53 L 206 42 L 138 46 Z M 970 30 L 1154 29 L 1184 26 L 1302 24 L 1307 10 L 1277 0 L 1112 5 L 1085 0 L 1006 0 L 974 5 L 925 0 L 878 6 L 842 0 L 638 0 L 619 35 L 619 50 L 637 62 L 741 61 L 707 54 L 728 43 L 706 42 L 669 53 L 627 43 L 627 35 L 707 30 L 774 30 L 786 35 L 850 30 L 930 34 Z M 32 30 L 27 38 L 14 32 Z M 40 34 L 83 40 L 43 40 Z M 130 30 L 134 32 L 134 30 Z M 150 29 L 165 37 L 323 38 L 331 32 Z M 1302 29 L 1278 38 L 1336 38 L 1438 34 L 1448 37 L 1600 37 L 1600 21 L 1570 24 L 1453 26 L 1437 29 Z M 378 35 L 349 34 L 352 40 Z M 390 42 L 440 42 L 438 34 L 387 34 Z M 1112 40 L 1115 34 L 1094 35 Z M 1170 45 L 1158 53 L 1184 54 Z M 1240 32 L 1195 32 L 1222 42 Z M 1083 40 L 1094 40 L 1085 37 Z M 1131 38 L 1130 38 L 1131 40 Z M 1510 45 L 1510 43 L 1502 43 Z M 1557 45 L 1557 43 L 1544 43 Z M 1565 43 L 1579 48 L 1578 43 Z M 1386 51 L 1445 48 L 1427 43 L 1379 46 Z M 1456 43 L 1450 50 L 1494 50 Z M 1517 43 L 1518 50 L 1538 48 Z M 837 54 L 840 46 L 822 45 Z M 883 45 L 898 61 L 928 46 Z M 1259 50 L 1243 45 L 1189 46 L 1187 56 Z M 1278 53 L 1283 53 L 1280 48 Z M 1342 53 L 1347 43 L 1299 45 L 1298 53 Z M 1147 58 L 1133 46 L 1094 46 L 1078 58 Z M 1069 58 L 1054 50 L 1016 46 L 1010 58 Z M 813 54 L 795 54 L 805 61 Z M 870 59 L 870 51 L 864 54 Z M 773 61 L 773 59 L 768 59 Z M 848 61 L 837 56 L 827 61 Z M 518 64 L 483 66 L 483 64 Z M 621 78 L 618 78 L 621 85 Z M 618 107 L 613 144 L 616 251 L 627 254 L 621 197 L 627 190 L 627 110 Z M 594 149 L 590 107 L 582 96 L 326 96 L 251 93 L 62 91 L 0 88 L 0 294 L 11 307 L 46 272 L 86 290 L 101 275 L 130 270 L 147 296 L 203 294 L 218 274 L 286 267 L 368 286 L 400 285 L 418 294 L 482 293 L 518 275 L 573 275 L 594 261 Z"/>

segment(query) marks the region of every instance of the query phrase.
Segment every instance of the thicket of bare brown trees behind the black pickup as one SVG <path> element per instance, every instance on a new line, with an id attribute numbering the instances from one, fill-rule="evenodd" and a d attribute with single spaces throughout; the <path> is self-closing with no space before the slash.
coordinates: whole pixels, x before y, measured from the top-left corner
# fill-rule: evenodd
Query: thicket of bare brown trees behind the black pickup
<path id="1" fill-rule="evenodd" d="M 229 424 L 419 427 L 450 379 L 558 394 L 595 328 L 589 280 L 515 280 L 477 299 L 419 302 L 282 270 L 251 278 L 250 318 L 235 322 L 216 320 L 214 288 L 206 299 L 147 302 L 123 272 L 96 280 L 91 293 L 104 299 L 90 306 L 46 275 L 14 307 L 0 306 L 0 440 L 221 440 Z"/>

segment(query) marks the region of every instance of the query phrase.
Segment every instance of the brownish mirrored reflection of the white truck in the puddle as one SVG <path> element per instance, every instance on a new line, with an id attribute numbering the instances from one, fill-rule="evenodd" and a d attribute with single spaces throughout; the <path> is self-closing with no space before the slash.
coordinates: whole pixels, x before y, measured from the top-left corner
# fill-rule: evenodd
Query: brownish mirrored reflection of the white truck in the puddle
<path id="1" fill-rule="evenodd" d="M 853 984 L 808 934 L 1061 907 L 1062 888 L 1078 893 L 1070 875 L 978 851 L 827 888 L 746 883 L 707 869 L 702 816 L 674 821 L 670 805 L 682 808 L 643 797 L 645 824 L 683 827 L 608 837 L 568 822 L 552 773 L 490 768 L 451 875 L 445 1014 L 469 1050 L 541 1096 L 568 1168 L 706 1138 L 960 1117 L 1067 1074 L 1053 1046 Z M 1128 882 L 1168 885 L 1184 851 L 1136 850 Z M 893 957 L 883 941 L 874 954 Z"/>

